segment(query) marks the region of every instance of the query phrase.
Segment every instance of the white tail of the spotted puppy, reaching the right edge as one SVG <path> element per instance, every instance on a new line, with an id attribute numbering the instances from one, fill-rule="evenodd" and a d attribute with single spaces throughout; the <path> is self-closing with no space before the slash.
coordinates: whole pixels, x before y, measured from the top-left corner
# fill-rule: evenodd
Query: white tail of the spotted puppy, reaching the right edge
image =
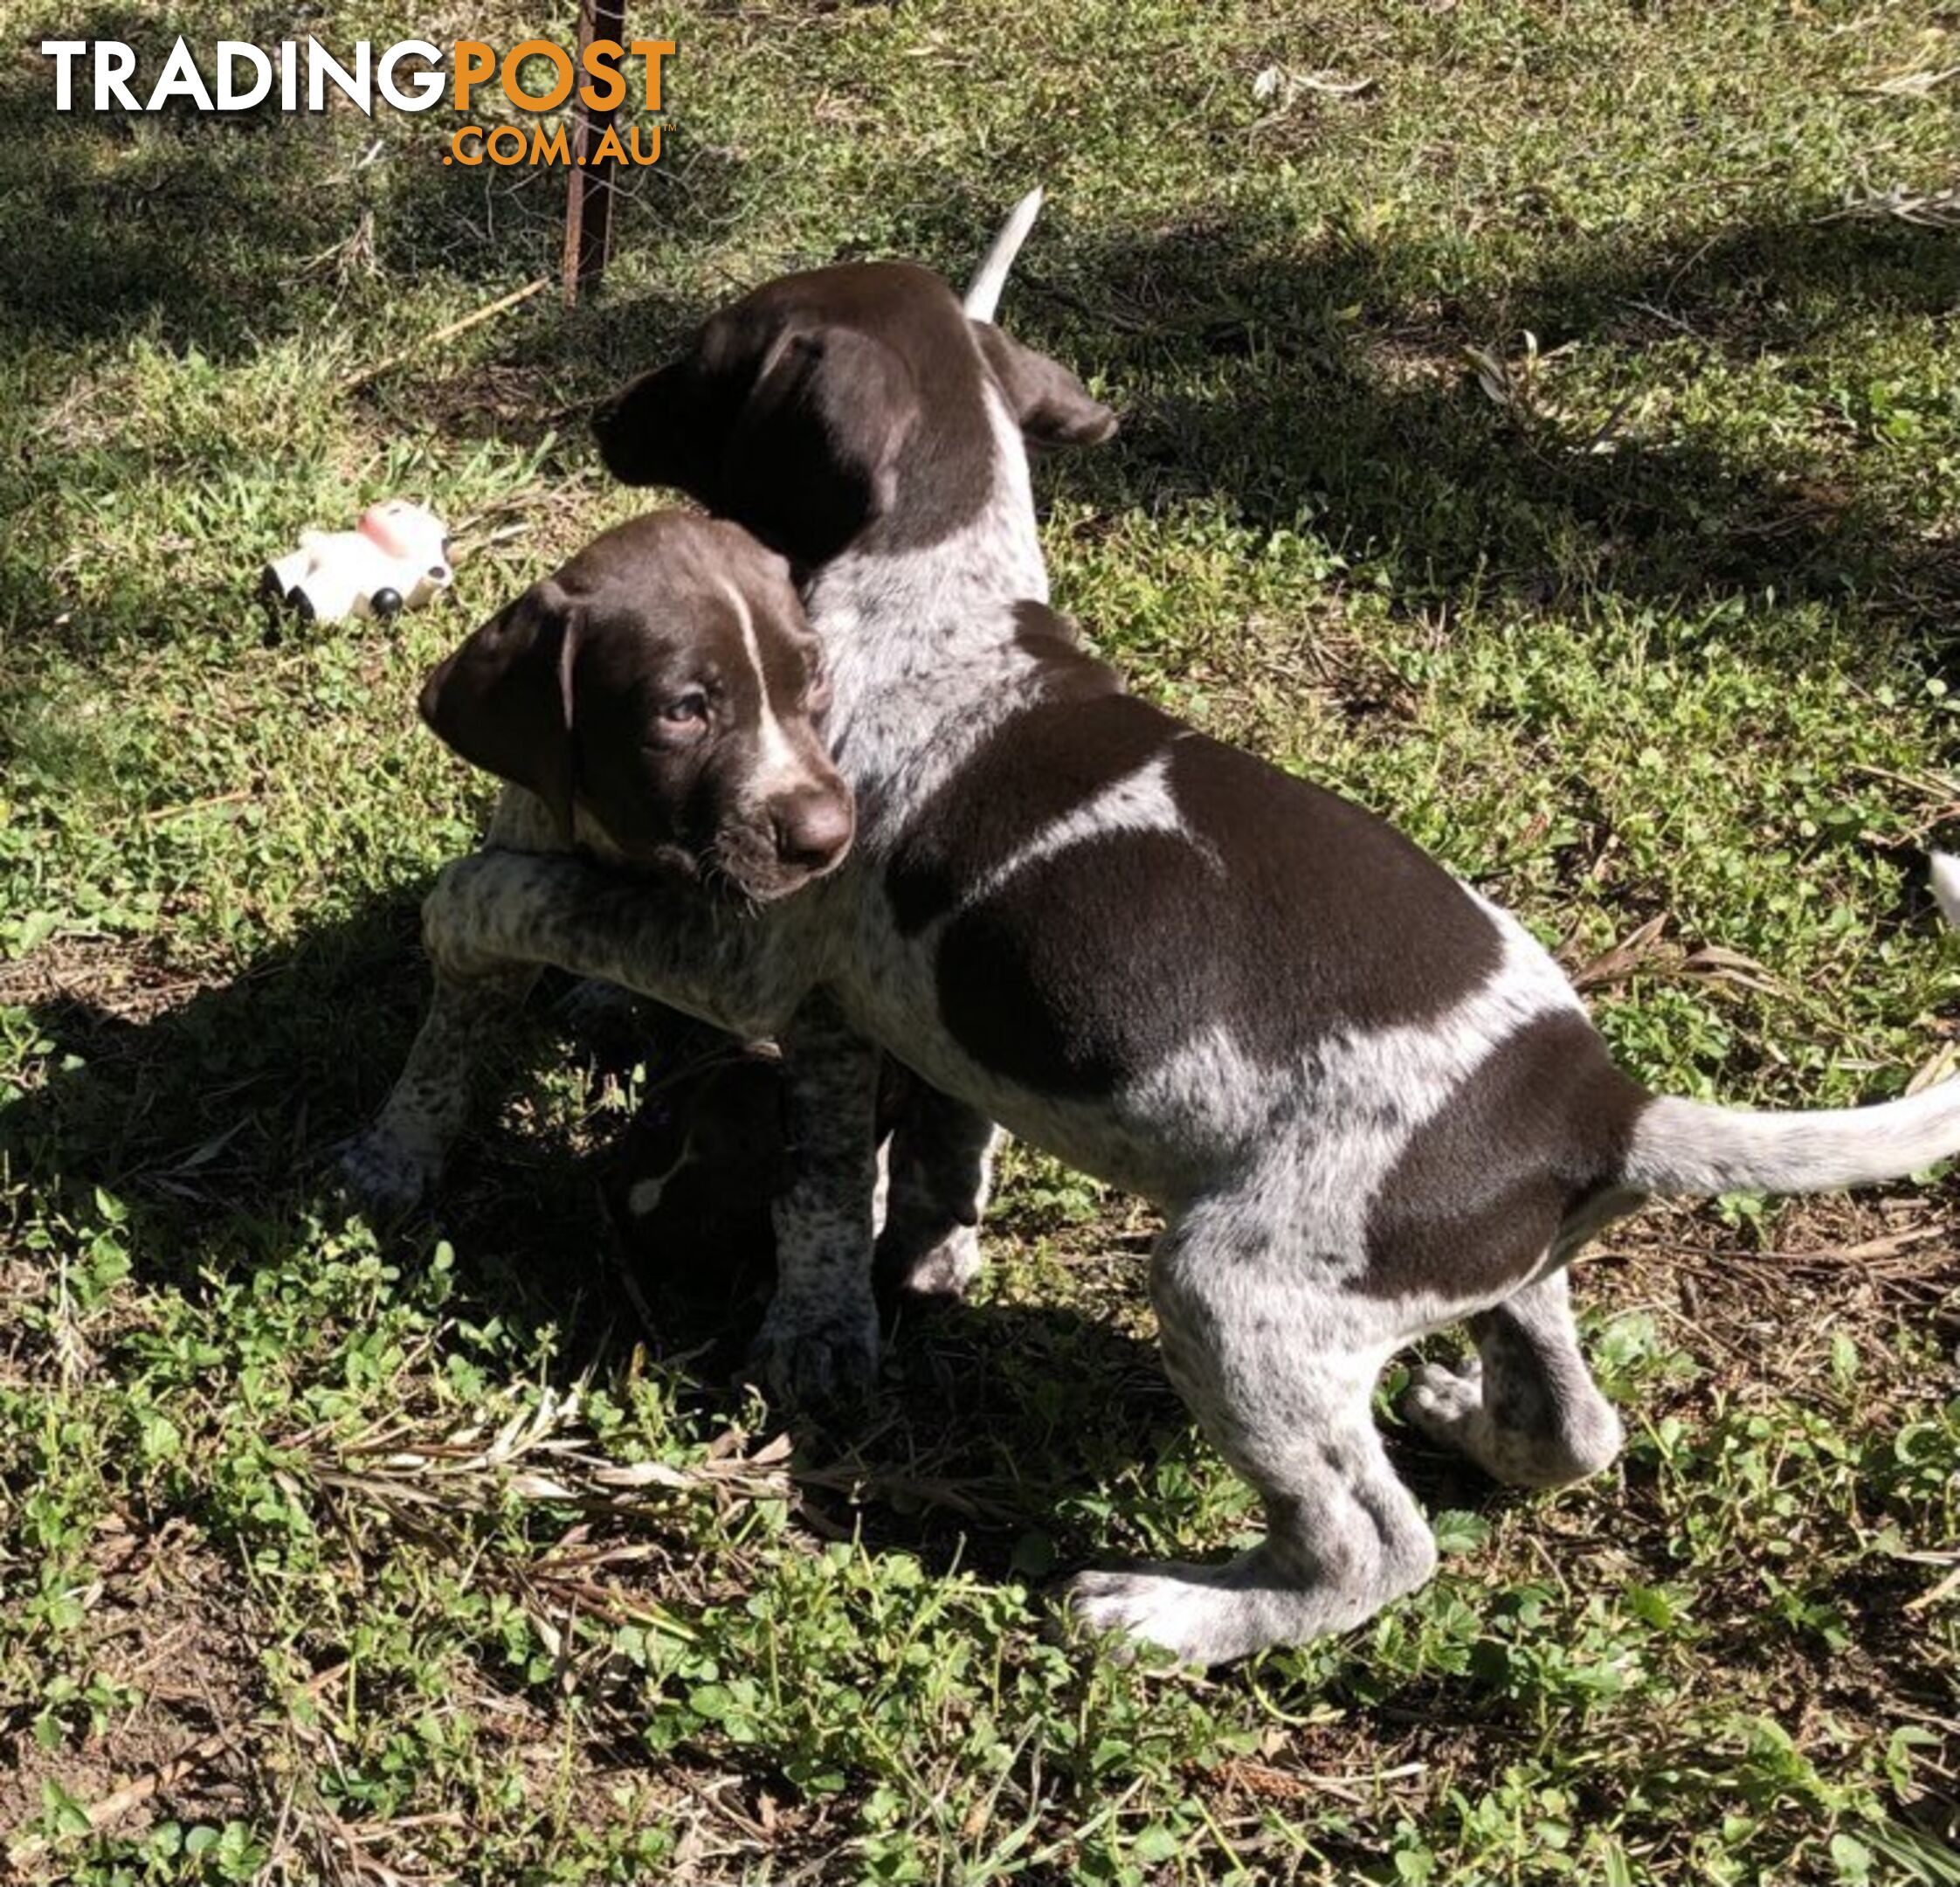
<path id="1" fill-rule="evenodd" d="M 1933 854 L 1933 897 L 1960 929 L 1960 858 Z M 1644 1193 L 1821 1193 L 1878 1185 L 1960 1154 L 1960 1078 L 1903 1101 L 1748 1113 L 1668 1095 L 1633 1127 L 1623 1184 Z"/>

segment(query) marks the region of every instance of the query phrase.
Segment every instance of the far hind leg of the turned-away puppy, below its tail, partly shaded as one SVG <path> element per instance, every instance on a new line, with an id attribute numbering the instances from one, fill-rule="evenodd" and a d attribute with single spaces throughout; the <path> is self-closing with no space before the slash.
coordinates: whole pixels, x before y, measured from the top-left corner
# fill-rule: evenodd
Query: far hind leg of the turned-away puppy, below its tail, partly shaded
<path id="1" fill-rule="evenodd" d="M 1419 1364 L 1401 1413 L 1513 1487 L 1564 1487 L 1597 1474 L 1621 1444 L 1619 1417 L 1580 1354 L 1560 1266 L 1470 1319 L 1478 1354 Z"/>

